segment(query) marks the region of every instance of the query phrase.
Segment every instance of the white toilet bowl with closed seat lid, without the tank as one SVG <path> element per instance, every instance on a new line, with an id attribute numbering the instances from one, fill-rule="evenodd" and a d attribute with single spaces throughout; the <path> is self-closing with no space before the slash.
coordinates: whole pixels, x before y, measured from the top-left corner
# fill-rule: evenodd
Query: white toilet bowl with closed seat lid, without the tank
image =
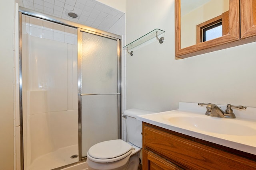
<path id="1" fill-rule="evenodd" d="M 87 164 L 89 170 L 136 170 L 139 156 L 140 148 L 117 139 L 92 146 L 87 152 Z"/>

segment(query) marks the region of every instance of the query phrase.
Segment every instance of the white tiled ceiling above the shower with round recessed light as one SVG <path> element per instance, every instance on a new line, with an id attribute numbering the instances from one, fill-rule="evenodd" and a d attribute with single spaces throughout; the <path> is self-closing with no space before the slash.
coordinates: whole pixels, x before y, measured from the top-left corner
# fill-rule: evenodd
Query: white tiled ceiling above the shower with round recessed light
<path id="1" fill-rule="evenodd" d="M 123 15 L 110 6 L 96 0 L 18 0 L 20 6 L 70 20 L 83 25 L 108 31 Z M 78 18 L 70 18 L 67 13 L 74 12 Z"/>

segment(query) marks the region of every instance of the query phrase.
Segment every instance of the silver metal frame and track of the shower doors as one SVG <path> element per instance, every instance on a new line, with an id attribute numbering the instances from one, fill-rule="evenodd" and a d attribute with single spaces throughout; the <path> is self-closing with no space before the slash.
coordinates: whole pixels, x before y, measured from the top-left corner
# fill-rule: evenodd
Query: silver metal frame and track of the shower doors
<path id="1" fill-rule="evenodd" d="M 112 39 L 116 39 L 117 41 L 119 41 L 119 47 L 118 47 L 118 60 L 121 63 L 121 53 L 122 53 L 122 44 L 121 44 L 121 36 L 120 35 L 116 35 L 114 33 L 109 33 L 106 31 L 102 31 L 100 29 L 96 29 L 93 27 L 89 27 L 86 25 L 82 25 L 76 22 L 72 22 L 72 21 L 68 21 L 68 20 L 64 20 L 61 18 L 57 18 L 54 16 L 50 16 L 48 14 L 44 14 L 44 13 L 40 13 L 40 12 L 36 12 L 34 10 L 30 10 L 28 8 L 24 8 L 24 7 L 20 7 L 19 6 L 19 76 L 18 76 L 18 81 L 19 81 L 19 105 L 20 105 L 20 166 L 21 166 L 21 170 L 24 170 L 24 148 L 23 148 L 23 115 L 22 115 L 22 14 L 27 15 L 27 16 L 32 16 L 32 17 L 36 17 L 42 20 L 47 20 L 47 21 L 51 21 L 53 23 L 58 23 L 61 25 L 66 25 L 69 27 L 73 27 L 78 29 L 78 32 L 81 31 L 83 29 L 83 31 L 88 32 L 88 33 L 93 33 L 95 35 L 101 35 L 103 37 L 109 37 Z M 80 44 L 80 39 L 78 38 L 78 44 Z M 79 47 L 78 47 L 79 48 Z M 78 54 L 79 55 L 79 54 Z M 80 58 L 78 56 L 78 58 Z M 80 61 L 78 61 L 79 63 Z M 78 67 L 79 68 L 79 67 Z M 119 72 L 120 74 L 118 75 L 118 91 L 121 92 L 121 88 L 122 88 L 122 79 L 121 79 L 121 64 L 119 67 Z M 79 79 L 79 73 L 78 73 L 78 81 L 80 81 Z M 80 86 L 80 82 L 78 82 L 78 91 L 79 91 L 79 86 Z M 83 161 L 86 161 L 86 157 L 82 158 L 82 128 L 81 128 L 81 124 L 82 124 L 82 120 L 81 120 L 81 109 L 80 109 L 80 97 L 79 96 L 89 96 L 89 95 L 118 95 L 119 100 L 118 100 L 118 139 L 121 138 L 122 136 L 122 132 L 121 132 L 121 127 L 122 127 L 122 117 L 121 117 L 121 110 L 122 110 L 122 97 L 121 97 L 121 93 L 111 93 L 111 94 L 80 94 L 78 92 L 78 154 L 79 154 L 79 160 L 78 162 L 72 163 L 72 164 L 68 164 L 65 166 L 61 166 L 58 168 L 54 168 L 53 170 L 60 170 L 75 164 L 79 164 Z"/>

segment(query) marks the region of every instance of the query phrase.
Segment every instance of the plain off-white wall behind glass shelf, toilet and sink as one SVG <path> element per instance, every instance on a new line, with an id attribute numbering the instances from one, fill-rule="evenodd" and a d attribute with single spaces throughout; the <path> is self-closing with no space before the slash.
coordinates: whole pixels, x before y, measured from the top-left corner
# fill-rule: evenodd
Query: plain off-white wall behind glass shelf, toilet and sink
<path id="1" fill-rule="evenodd" d="M 126 43 L 166 31 L 126 58 L 127 109 L 166 111 L 178 102 L 256 107 L 256 43 L 175 60 L 174 0 L 126 1 Z"/>

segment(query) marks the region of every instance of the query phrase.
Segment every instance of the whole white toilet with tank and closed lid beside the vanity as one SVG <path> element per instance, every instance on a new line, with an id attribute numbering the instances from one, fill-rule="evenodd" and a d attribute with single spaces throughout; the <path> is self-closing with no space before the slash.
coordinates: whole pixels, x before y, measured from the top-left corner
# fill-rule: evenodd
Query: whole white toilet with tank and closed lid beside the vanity
<path id="1" fill-rule="evenodd" d="M 142 148 L 142 122 L 136 117 L 150 113 L 155 112 L 141 109 L 125 110 L 123 117 L 129 142 L 116 139 L 93 145 L 87 152 L 88 169 L 138 170 Z"/>

